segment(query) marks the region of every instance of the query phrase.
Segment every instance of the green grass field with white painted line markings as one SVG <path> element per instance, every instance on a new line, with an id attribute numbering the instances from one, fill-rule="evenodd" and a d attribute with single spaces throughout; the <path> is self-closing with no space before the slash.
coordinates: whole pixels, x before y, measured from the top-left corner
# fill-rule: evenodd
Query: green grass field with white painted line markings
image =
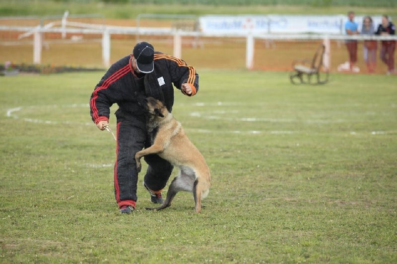
<path id="1" fill-rule="evenodd" d="M 396 76 L 198 71 L 173 112 L 211 169 L 201 214 L 188 193 L 145 211 L 141 175 L 119 213 L 102 72 L 1 77 L 0 263 L 397 262 Z"/>

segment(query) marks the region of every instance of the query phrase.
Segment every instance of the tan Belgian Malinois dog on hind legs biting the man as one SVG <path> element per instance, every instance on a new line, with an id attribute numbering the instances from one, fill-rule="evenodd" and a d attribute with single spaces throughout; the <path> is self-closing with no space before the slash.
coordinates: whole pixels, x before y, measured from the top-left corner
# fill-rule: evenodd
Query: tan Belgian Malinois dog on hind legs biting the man
<path id="1" fill-rule="evenodd" d="M 201 199 L 208 195 L 211 178 L 204 157 L 186 136 L 181 123 L 161 101 L 153 97 L 139 97 L 138 103 L 146 113 L 146 128 L 152 146 L 135 154 L 137 171 L 141 170 L 140 158 L 149 154 L 157 154 L 179 168 L 179 174 L 171 182 L 163 204 L 157 208 L 146 209 L 167 208 L 171 206 L 172 200 L 179 191 L 187 191 L 193 192 L 195 211 L 200 212 Z"/>

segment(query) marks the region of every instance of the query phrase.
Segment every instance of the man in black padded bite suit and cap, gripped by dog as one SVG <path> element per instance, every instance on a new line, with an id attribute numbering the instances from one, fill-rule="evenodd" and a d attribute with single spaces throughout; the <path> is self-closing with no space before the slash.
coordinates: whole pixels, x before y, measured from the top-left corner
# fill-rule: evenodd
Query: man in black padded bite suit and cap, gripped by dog
<path id="1" fill-rule="evenodd" d="M 150 146 L 145 115 L 135 98 L 137 93 L 159 99 L 172 111 L 174 87 L 186 96 L 199 90 L 199 75 L 184 60 L 154 51 L 151 44 L 140 42 L 130 55 L 114 63 L 95 86 L 90 99 L 92 120 L 100 130 L 108 129 L 110 106 L 117 104 L 117 147 L 114 167 L 116 202 L 121 213 L 131 213 L 137 201 L 135 153 Z M 144 157 L 148 168 L 144 187 L 153 203 L 162 203 L 172 165 L 157 155 Z"/>

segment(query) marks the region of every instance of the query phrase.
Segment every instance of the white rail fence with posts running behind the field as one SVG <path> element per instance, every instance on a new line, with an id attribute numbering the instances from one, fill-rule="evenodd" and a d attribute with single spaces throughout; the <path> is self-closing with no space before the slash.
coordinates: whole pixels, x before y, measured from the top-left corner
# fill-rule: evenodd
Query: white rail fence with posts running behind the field
<path id="1" fill-rule="evenodd" d="M 203 25 L 203 24 L 201 24 Z M 85 24 L 67 21 L 63 18 L 60 23 L 52 23 L 47 25 L 39 25 L 36 27 L 19 27 L 19 26 L 0 26 L 0 31 L 16 31 L 23 32 L 22 35 L 33 34 L 33 63 L 41 63 L 41 51 L 43 48 L 43 33 L 61 33 L 65 36 L 70 34 L 100 34 L 102 35 L 102 62 L 105 67 L 110 65 L 110 47 L 112 34 L 126 35 L 154 35 L 154 36 L 173 36 L 174 47 L 173 55 L 181 57 L 182 54 L 182 38 L 183 37 L 216 37 L 216 38 L 245 38 L 246 39 L 246 67 L 252 69 L 254 65 L 254 47 L 255 40 L 322 40 L 326 45 L 326 54 L 324 61 L 327 63 L 330 58 L 330 40 L 396 40 L 397 36 L 375 36 L 375 35 L 355 35 L 346 36 L 339 34 L 276 34 L 266 33 L 256 30 L 202 30 L 202 31 L 183 31 L 173 28 L 147 28 L 147 27 L 120 27 L 107 26 L 98 24 Z M 329 66 L 326 64 L 326 66 Z"/>

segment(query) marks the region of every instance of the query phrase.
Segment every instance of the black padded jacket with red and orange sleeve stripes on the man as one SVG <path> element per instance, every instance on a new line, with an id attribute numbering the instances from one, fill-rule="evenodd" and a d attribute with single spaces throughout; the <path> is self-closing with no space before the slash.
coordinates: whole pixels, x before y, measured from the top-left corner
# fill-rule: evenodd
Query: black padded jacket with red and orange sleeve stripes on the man
<path id="1" fill-rule="evenodd" d="M 160 89 L 165 105 L 172 111 L 173 85 L 181 90 L 183 83 L 190 84 L 190 96 L 194 96 L 199 90 L 198 73 L 194 67 L 180 58 L 155 52 L 154 71 L 143 76 L 134 73 L 131 59 L 132 56 L 128 55 L 114 63 L 95 86 L 90 98 L 90 114 L 95 123 L 109 120 L 110 106 L 113 104 L 117 104 L 124 114 L 144 118 L 141 106 L 135 101 L 135 92 L 158 97 L 156 90 Z M 150 84 L 150 87 L 147 87 L 147 84 Z"/>

